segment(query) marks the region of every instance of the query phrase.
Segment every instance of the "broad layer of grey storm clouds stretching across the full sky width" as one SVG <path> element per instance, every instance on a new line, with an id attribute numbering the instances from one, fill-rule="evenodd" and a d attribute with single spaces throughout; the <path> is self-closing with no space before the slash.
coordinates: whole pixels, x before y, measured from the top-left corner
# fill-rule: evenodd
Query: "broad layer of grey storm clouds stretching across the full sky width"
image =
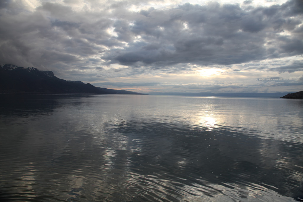
<path id="1" fill-rule="evenodd" d="M 300 0 L 250 9 L 252 1 L 244 7 L 186 3 L 138 12 L 127 8 L 144 1 L 88 1 L 91 9 L 78 10 L 65 3 L 44 2 L 28 11 L 1 1 L 0 62 L 52 70 L 120 64 L 135 69 L 128 73 L 134 75 L 143 67 L 177 72 L 188 64 L 228 66 L 303 54 Z M 300 66 L 270 70 L 294 72 Z"/>

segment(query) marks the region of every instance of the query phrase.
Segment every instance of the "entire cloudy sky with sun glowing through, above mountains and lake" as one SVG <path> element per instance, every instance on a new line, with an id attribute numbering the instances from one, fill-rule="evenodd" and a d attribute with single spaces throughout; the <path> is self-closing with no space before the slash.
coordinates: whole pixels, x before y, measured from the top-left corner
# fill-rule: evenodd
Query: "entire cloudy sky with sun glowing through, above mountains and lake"
<path id="1" fill-rule="evenodd" d="M 301 0 L 1 0 L 0 64 L 138 93 L 303 90 Z"/>

